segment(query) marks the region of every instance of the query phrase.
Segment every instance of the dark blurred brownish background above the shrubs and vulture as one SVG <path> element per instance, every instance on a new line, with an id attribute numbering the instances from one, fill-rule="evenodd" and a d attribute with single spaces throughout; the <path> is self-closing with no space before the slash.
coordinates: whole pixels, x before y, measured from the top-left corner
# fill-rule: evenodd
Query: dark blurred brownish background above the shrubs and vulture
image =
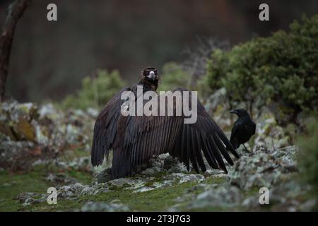
<path id="1" fill-rule="evenodd" d="M 0 1 L 1 25 L 10 2 Z M 61 100 L 95 69 L 118 69 L 133 84 L 146 66 L 185 61 L 202 37 L 232 46 L 318 12 L 316 0 L 266 1 L 270 21 L 261 22 L 263 2 L 35 0 L 18 22 L 7 95 L 21 102 Z M 47 21 L 49 3 L 57 4 L 57 22 Z"/>

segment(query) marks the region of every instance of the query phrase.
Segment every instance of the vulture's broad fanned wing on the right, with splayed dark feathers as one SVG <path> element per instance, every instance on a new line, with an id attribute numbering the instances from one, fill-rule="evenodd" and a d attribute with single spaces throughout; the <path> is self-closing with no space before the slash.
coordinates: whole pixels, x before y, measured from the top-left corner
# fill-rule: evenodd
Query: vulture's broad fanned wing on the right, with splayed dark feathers
<path id="1" fill-rule="evenodd" d="M 179 90 L 177 88 L 172 92 Z M 189 98 L 191 100 L 191 97 Z M 183 104 L 183 102 L 182 102 Z M 189 105 L 188 105 L 189 106 Z M 175 110 L 175 105 L 173 106 Z M 184 124 L 184 116 L 129 116 L 124 138 L 124 152 L 129 155 L 131 167 L 146 162 L 153 155 L 170 153 L 181 162 L 199 172 L 206 171 L 203 155 L 208 165 L 227 172 L 223 157 L 233 164 L 226 150 L 239 157 L 220 127 L 208 115 L 204 106 L 197 103 L 197 121 Z M 222 157 L 223 155 L 223 157 Z M 113 162 L 113 167 L 120 167 Z M 120 176 L 120 175 L 118 175 Z"/>

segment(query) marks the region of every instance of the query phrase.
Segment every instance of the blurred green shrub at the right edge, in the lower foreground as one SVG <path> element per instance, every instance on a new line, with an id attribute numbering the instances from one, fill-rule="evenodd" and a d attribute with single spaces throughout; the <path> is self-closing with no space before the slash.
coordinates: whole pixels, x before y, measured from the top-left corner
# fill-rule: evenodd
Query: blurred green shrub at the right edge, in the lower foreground
<path id="1" fill-rule="evenodd" d="M 306 137 L 299 139 L 300 154 L 298 163 L 300 167 L 300 179 L 305 184 L 312 186 L 312 196 L 318 202 L 318 121 L 309 120 L 307 123 Z M 318 203 L 316 206 L 318 210 Z"/>

